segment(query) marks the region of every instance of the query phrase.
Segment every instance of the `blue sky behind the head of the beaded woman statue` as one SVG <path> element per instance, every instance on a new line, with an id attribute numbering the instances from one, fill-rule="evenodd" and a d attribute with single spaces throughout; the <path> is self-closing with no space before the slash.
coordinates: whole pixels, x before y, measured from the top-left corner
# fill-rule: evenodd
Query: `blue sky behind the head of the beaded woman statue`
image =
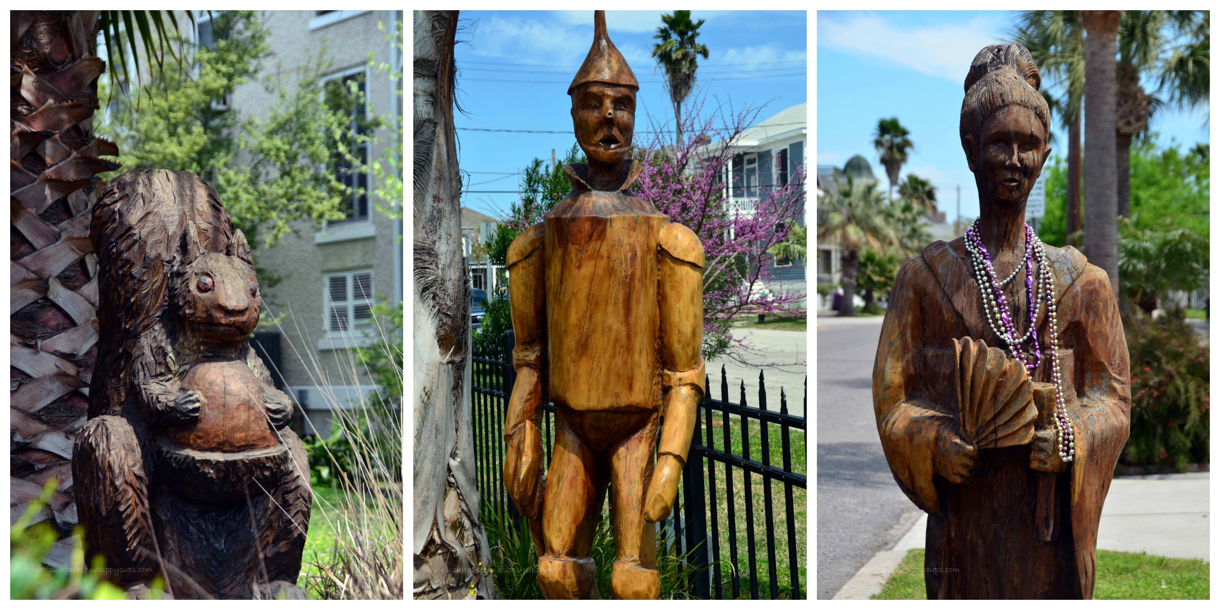
<path id="1" fill-rule="evenodd" d="M 843 163 L 860 154 L 884 181 L 872 148 L 877 120 L 897 116 L 915 150 L 902 174 L 930 178 L 939 207 L 952 218 L 956 187 L 961 215 L 977 216 L 974 174 L 958 139 L 963 79 L 975 54 L 1004 41 L 1015 11 L 819 11 L 817 163 Z M 1210 142 L 1207 110 L 1166 110 L 1153 118 L 1161 144 Z M 1052 117 L 1052 155 L 1065 154 L 1068 135 Z M 884 182 L 888 185 L 888 181 Z"/>

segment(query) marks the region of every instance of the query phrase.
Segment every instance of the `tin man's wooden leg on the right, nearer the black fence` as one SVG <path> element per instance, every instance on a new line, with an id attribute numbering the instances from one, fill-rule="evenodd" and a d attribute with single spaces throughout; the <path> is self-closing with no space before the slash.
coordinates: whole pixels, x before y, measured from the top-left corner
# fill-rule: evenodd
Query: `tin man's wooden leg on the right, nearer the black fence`
<path id="1" fill-rule="evenodd" d="M 659 415 L 610 447 L 610 499 L 617 561 L 610 571 L 614 599 L 656 599 L 656 526 L 644 520 L 644 498 L 653 477 Z"/>

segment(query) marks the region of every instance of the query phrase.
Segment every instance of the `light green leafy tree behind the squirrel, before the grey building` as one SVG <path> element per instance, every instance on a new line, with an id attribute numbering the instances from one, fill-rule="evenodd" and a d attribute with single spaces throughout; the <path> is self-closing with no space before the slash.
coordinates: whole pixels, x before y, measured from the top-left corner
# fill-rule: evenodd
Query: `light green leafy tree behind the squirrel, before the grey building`
<path id="1" fill-rule="evenodd" d="M 176 40 L 178 57 L 168 62 L 177 70 L 152 74 L 155 87 L 139 100 L 120 98 L 99 128 L 120 143 L 126 168 L 201 176 L 251 245 L 262 246 L 281 240 L 298 220 L 345 217 L 345 201 L 357 189 L 317 168 L 342 165 L 356 173 L 366 160 L 353 154 L 355 145 L 371 142 L 379 124 L 354 112 L 364 109 L 359 82 L 321 82 L 322 59 L 293 74 L 290 87 L 278 74 L 265 82 L 277 99 L 265 120 L 218 106 L 260 73 L 270 59 L 267 35 L 254 11 L 218 13 L 211 48 Z M 178 72 L 193 76 L 171 76 Z"/>

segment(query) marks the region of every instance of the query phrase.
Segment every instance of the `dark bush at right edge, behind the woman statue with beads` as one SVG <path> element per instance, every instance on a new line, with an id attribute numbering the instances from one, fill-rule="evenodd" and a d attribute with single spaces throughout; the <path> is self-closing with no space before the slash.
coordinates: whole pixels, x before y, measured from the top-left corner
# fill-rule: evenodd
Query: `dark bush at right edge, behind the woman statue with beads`
<path id="1" fill-rule="evenodd" d="M 1121 462 L 1180 472 L 1210 451 L 1209 357 L 1180 311 L 1124 321 L 1131 353 L 1131 438 Z"/>

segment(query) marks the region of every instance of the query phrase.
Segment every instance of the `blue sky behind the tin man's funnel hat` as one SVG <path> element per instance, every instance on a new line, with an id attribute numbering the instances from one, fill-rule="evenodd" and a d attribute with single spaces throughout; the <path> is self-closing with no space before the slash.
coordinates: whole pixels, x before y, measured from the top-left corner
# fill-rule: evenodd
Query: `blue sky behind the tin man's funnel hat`
<path id="1" fill-rule="evenodd" d="M 653 34 L 662 11 L 606 11 L 610 39 L 639 81 L 636 142 L 651 122 L 670 122 L 672 107 L 662 73 L 651 59 Z M 765 105 L 762 121 L 806 101 L 808 67 L 804 11 L 693 11 L 706 20 L 699 41 L 710 50 L 699 60 L 699 93 L 708 106 L 734 109 Z M 471 172 L 462 205 L 492 216 L 506 215 L 517 200 L 518 172 L 534 157 L 550 159 L 576 143 L 567 85 L 593 43 L 593 11 L 462 11 L 465 30 L 458 38 L 459 161 Z M 501 82 L 509 81 L 509 82 Z M 521 82 L 518 82 L 521 81 Z M 694 94 L 693 94 L 694 95 Z M 495 133 L 479 129 L 559 131 L 562 133 Z M 477 172 L 477 173 L 476 173 Z M 483 173 L 503 172 L 503 173 Z M 473 193 L 509 190 L 512 193 Z"/>

